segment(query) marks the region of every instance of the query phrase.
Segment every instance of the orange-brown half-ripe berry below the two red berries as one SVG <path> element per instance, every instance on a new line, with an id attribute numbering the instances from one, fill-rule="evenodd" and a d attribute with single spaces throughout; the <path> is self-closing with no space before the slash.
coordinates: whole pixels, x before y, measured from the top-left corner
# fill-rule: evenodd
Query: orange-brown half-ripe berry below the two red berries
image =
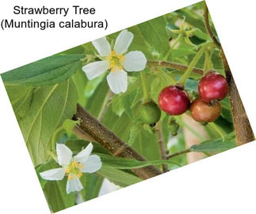
<path id="1" fill-rule="evenodd" d="M 197 122 L 213 122 L 219 118 L 221 112 L 220 103 L 210 103 L 204 102 L 201 97 L 193 100 L 190 107 L 190 113 L 194 120 Z"/>

